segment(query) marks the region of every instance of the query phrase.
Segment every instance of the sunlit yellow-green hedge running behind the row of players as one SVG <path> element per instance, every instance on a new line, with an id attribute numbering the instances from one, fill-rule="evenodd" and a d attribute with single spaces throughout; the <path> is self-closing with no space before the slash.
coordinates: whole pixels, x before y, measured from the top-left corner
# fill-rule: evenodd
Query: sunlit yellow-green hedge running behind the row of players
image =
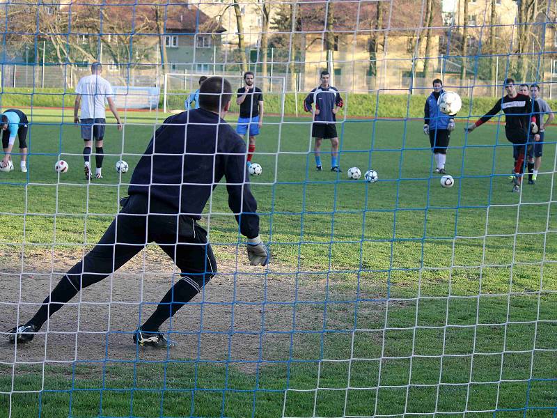
<path id="1" fill-rule="evenodd" d="M 185 91 L 171 91 L 168 95 L 167 109 L 183 109 L 186 97 Z M 64 91 L 62 88 L 4 88 L 0 95 L 2 109 L 8 107 L 72 107 L 74 103 L 74 92 Z M 281 114 L 282 95 L 268 93 L 265 98 L 265 113 Z M 305 93 L 297 95 L 298 113 L 304 114 Z M 373 118 L 423 118 L 423 105 L 425 95 L 379 95 L 379 105 L 377 105 L 377 95 L 367 94 L 348 94 L 344 95 L 345 112 L 347 117 Z M 162 109 L 162 95 L 159 106 Z M 485 114 L 493 106 L 496 98 L 473 98 L 471 114 Z M 548 100 L 553 109 L 557 109 L 557 100 Z M 462 98 L 462 111 L 460 114 L 469 114 L 470 99 Z M 288 93 L 284 99 L 285 114 L 295 114 L 295 95 Z M 237 112 L 238 107 L 235 100 L 230 107 L 230 111 Z M 341 115 L 342 116 L 342 115 Z"/>

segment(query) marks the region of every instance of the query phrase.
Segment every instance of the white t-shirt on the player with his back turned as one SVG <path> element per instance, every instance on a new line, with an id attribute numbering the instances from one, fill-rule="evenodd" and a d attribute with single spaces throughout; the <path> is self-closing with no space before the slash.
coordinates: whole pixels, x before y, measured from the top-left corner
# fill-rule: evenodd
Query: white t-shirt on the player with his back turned
<path id="1" fill-rule="evenodd" d="M 75 92 L 81 94 L 81 119 L 106 118 L 104 103 L 112 95 L 112 87 L 100 75 L 86 75 L 79 80 Z"/>

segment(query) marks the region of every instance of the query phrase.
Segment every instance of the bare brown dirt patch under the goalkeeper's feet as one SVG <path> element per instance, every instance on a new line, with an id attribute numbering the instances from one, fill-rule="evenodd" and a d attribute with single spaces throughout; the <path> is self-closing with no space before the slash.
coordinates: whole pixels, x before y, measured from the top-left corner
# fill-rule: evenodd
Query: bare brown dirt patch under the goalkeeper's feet
<path id="1" fill-rule="evenodd" d="M 85 251 L 30 253 L 26 247 L 22 254 L 14 247 L 0 252 L 0 330 L 31 318 Z M 32 343 L 15 347 L 0 340 L 0 361 L 199 359 L 249 371 L 265 360 L 319 358 L 329 332 L 350 335 L 354 327 L 376 326 L 384 318 L 385 302 L 370 279 L 357 286 L 354 275 L 350 284 L 343 274 L 299 274 L 276 263 L 255 268 L 243 247 L 237 254 L 230 248 L 217 252 L 217 261 L 219 273 L 203 293 L 163 325 L 177 343 L 170 350 L 137 350 L 132 343 L 132 332 L 178 277 L 172 261 L 158 247 L 149 247 L 74 297 Z"/>

